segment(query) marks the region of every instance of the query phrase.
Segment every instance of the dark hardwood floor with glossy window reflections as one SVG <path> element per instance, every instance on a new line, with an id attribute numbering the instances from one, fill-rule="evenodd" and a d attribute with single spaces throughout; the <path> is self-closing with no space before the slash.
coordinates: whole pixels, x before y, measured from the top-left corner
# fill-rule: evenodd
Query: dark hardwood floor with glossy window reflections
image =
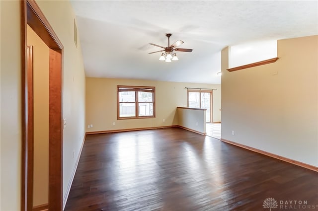
<path id="1" fill-rule="evenodd" d="M 65 211 L 269 211 L 267 198 L 317 211 L 318 173 L 171 128 L 88 135 Z"/>

